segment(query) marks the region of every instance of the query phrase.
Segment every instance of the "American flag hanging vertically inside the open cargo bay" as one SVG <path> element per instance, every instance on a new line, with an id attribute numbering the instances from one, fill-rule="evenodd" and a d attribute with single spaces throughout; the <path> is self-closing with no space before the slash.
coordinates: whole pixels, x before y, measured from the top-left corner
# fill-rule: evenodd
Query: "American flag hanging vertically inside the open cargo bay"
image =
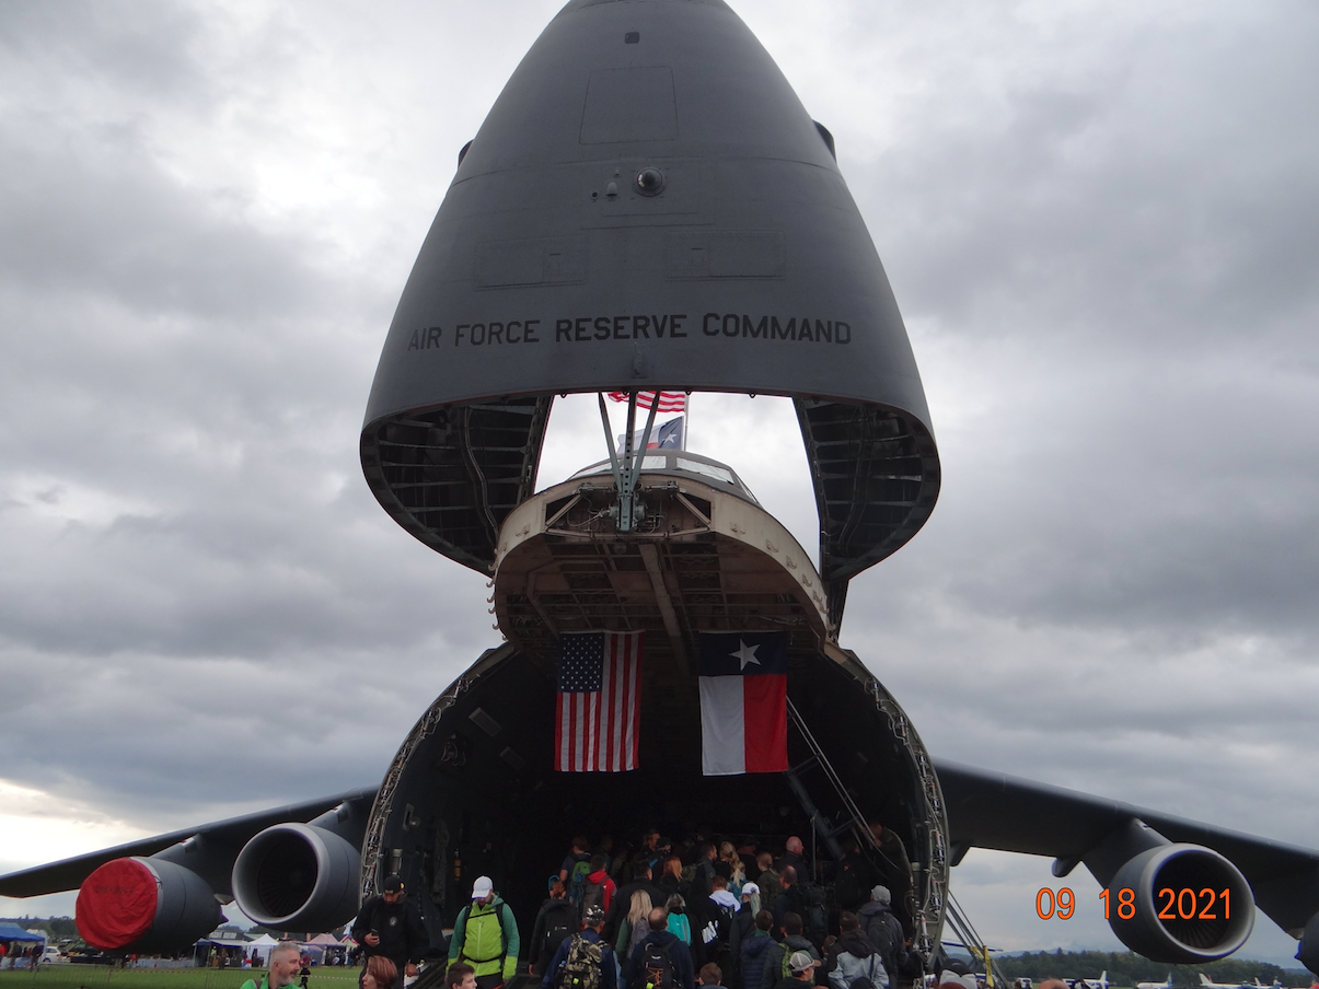
<path id="1" fill-rule="evenodd" d="M 555 715 L 555 770 L 636 769 L 641 734 L 641 633 L 565 636 Z"/>

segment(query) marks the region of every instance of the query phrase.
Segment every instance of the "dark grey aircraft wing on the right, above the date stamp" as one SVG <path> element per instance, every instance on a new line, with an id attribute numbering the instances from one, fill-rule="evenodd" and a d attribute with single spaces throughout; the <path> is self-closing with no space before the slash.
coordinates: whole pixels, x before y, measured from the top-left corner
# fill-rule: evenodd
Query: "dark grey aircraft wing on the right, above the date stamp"
<path id="1" fill-rule="evenodd" d="M 1256 906 L 1299 936 L 1319 913 L 1319 851 L 1217 828 L 1121 800 L 935 761 L 954 862 L 967 848 L 1051 856 L 1066 874 L 1109 835 L 1137 820 L 1170 841 L 1211 848 L 1245 876 Z"/>

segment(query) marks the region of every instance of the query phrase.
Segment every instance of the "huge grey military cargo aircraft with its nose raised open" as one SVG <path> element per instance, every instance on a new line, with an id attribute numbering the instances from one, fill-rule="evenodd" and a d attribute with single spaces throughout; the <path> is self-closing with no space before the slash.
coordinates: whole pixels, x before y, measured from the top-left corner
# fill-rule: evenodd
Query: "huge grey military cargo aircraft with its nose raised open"
<path id="1" fill-rule="evenodd" d="M 818 564 L 735 464 L 648 448 L 642 393 L 662 390 L 791 398 Z M 611 392 L 628 401 L 621 455 L 603 414 L 609 460 L 534 491 L 554 398 Z M 379 787 L 13 873 L 0 894 L 80 887 L 88 943 L 144 952 L 191 943 L 230 899 L 327 928 L 398 873 L 438 934 L 479 874 L 533 905 L 575 831 L 670 822 L 814 835 L 832 858 L 856 843 L 926 956 L 950 869 L 981 847 L 1050 856 L 1059 877 L 1084 864 L 1151 959 L 1229 955 L 1257 906 L 1319 972 L 1319 852 L 940 762 L 843 645 L 849 580 L 930 517 L 939 454 L 832 136 L 723 0 L 571 0 L 545 29 L 459 154 L 360 455 L 400 526 L 488 582 L 504 641 Z M 623 727 L 586 757 L 574 732 L 600 723 L 557 719 L 566 644 L 595 633 L 638 636 L 644 658 Z M 778 769 L 710 774 L 714 633 L 782 646 Z"/>

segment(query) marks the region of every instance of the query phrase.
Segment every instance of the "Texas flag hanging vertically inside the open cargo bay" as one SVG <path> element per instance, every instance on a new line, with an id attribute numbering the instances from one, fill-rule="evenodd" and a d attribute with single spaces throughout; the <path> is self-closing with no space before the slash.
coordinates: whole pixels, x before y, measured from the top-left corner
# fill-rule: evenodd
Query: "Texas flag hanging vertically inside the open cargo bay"
<path id="1" fill-rule="evenodd" d="M 787 770 L 787 637 L 700 636 L 700 769 L 707 777 Z"/>

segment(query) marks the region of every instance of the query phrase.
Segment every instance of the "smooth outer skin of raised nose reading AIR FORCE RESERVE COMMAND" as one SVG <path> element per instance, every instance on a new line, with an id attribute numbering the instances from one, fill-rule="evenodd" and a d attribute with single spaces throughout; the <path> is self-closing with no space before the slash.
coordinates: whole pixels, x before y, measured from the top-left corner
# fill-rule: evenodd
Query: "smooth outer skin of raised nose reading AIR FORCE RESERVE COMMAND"
<path id="1" fill-rule="evenodd" d="M 838 164 L 721 3 L 572 3 L 550 22 L 463 156 L 367 421 L 633 384 L 874 402 L 927 431 Z"/>

